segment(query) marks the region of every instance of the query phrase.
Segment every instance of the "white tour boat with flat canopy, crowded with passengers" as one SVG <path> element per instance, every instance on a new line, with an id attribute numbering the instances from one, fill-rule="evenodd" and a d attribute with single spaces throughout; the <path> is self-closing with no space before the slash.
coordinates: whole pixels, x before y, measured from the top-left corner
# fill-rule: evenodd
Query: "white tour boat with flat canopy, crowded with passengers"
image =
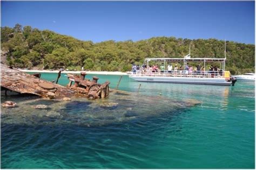
<path id="1" fill-rule="evenodd" d="M 152 71 L 149 69 L 149 62 L 162 62 L 164 64 L 164 71 Z M 210 85 L 223 85 L 234 86 L 236 79 L 231 76 L 229 71 L 225 71 L 226 58 L 190 58 L 190 54 L 184 58 L 147 58 L 144 63 L 147 63 L 145 69 L 132 72 L 129 77 L 139 82 L 163 82 L 163 83 L 186 83 L 186 84 L 210 84 Z M 168 71 L 165 68 L 167 63 L 183 62 L 182 70 Z M 205 70 L 185 70 L 188 62 L 218 62 L 220 63 L 220 71 L 206 71 Z"/>

